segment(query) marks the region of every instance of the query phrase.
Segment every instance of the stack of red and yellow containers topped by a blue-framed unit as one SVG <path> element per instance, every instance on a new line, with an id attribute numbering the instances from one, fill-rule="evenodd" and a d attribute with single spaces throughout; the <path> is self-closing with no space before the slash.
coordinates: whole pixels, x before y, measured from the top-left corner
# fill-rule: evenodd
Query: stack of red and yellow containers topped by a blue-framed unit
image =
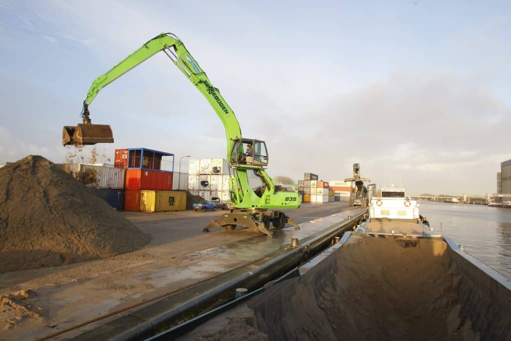
<path id="1" fill-rule="evenodd" d="M 174 154 L 147 148 L 116 149 L 114 167 L 126 170 L 126 211 L 172 212 L 186 209 L 186 194 L 172 191 Z"/>

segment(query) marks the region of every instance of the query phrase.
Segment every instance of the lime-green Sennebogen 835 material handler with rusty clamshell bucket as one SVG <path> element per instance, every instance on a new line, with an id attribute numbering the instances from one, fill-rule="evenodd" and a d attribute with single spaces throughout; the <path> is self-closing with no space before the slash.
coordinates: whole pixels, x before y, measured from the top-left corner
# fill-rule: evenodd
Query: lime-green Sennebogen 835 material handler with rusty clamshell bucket
<path id="1" fill-rule="evenodd" d="M 214 219 L 204 228 L 204 231 L 220 226 L 226 230 L 243 226 L 272 237 L 269 231 L 270 223 L 277 229 L 283 228 L 286 223 L 299 229 L 291 217 L 278 211 L 278 209 L 297 209 L 300 207 L 301 200 L 297 192 L 279 192 L 278 187 L 275 187 L 273 180 L 266 173 L 269 156 L 265 142 L 242 137 L 233 109 L 220 95 L 218 88 L 212 85 L 182 41 L 172 33 L 162 33 L 147 41 L 140 49 L 92 82 L 83 102 L 81 113 L 83 123 L 76 127 L 64 126 L 62 144 L 112 143 L 113 134 L 109 125 L 91 123 L 90 103 L 103 87 L 160 51 L 165 52 L 183 75 L 204 95 L 225 127 L 227 161 L 234 174 L 230 178 L 230 199 L 234 209 Z M 247 172 L 253 172 L 261 179 L 263 185 L 255 189 L 250 188 Z"/>

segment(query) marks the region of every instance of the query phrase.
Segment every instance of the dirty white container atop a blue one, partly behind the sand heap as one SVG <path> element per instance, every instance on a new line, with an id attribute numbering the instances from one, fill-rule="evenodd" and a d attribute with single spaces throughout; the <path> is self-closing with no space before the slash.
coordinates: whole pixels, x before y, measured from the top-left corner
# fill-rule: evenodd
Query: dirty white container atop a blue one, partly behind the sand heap
<path id="1" fill-rule="evenodd" d="M 63 164 L 66 172 L 92 188 L 124 188 L 126 169 L 88 164 Z"/>

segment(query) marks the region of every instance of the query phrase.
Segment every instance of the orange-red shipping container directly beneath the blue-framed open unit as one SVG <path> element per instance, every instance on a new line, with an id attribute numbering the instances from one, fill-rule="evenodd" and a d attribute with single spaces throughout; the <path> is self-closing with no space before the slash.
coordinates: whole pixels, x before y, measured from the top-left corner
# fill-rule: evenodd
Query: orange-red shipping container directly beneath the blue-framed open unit
<path id="1" fill-rule="evenodd" d="M 126 170 L 126 189 L 172 191 L 172 172 L 149 169 Z"/>

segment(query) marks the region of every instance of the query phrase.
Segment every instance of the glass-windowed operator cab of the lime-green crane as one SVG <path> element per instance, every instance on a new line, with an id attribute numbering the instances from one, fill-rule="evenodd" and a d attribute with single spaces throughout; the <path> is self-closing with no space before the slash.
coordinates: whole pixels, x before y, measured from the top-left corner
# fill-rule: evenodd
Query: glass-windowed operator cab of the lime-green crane
<path id="1" fill-rule="evenodd" d="M 233 149 L 230 152 L 230 164 L 232 167 L 266 167 L 268 165 L 266 143 L 255 139 L 234 140 Z"/>

